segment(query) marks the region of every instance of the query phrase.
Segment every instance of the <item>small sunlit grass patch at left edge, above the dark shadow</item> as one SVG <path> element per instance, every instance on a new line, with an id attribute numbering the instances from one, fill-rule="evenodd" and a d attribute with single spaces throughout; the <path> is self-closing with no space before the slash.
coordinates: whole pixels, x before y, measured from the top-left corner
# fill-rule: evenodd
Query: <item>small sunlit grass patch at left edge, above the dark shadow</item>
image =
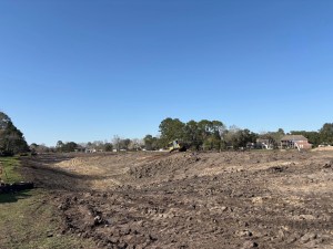
<path id="1" fill-rule="evenodd" d="M 0 178 L 4 183 L 12 184 L 23 180 L 19 172 L 20 160 L 17 157 L 0 157 L 0 167 L 2 168 Z"/>

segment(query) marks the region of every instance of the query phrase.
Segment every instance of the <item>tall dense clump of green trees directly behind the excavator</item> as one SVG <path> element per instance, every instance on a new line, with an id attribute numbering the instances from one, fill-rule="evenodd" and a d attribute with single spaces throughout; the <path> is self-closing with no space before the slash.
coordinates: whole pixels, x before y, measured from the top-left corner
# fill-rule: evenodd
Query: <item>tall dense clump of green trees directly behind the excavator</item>
<path id="1" fill-rule="evenodd" d="M 171 141 L 178 139 L 194 151 L 222 151 L 229 147 L 245 147 L 255 143 L 258 134 L 250 129 L 231 126 L 229 129 L 221 121 L 189 121 L 168 117 L 159 126 L 160 136 L 147 135 L 143 141 L 149 149 L 165 148 Z"/>

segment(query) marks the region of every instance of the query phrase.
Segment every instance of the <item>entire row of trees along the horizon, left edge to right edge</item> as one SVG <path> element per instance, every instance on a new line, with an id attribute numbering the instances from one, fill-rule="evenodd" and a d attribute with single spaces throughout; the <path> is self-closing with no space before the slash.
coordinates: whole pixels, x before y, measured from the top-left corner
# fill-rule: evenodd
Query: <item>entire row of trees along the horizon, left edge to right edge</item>
<path id="1" fill-rule="evenodd" d="M 269 141 L 273 147 L 278 147 L 284 135 L 303 135 L 314 147 L 319 145 L 333 145 L 333 123 L 325 123 L 317 132 L 291 131 L 285 134 L 282 128 L 276 132 L 254 133 L 248 128 L 230 126 L 221 121 L 189 121 L 179 118 L 164 118 L 159 125 L 159 135 L 148 134 L 142 139 L 122 138 L 113 136 L 111 142 L 97 141 L 75 143 L 58 141 L 56 146 L 48 147 L 36 143 L 28 146 L 23 133 L 18 129 L 10 117 L 0 112 L 0 156 L 20 153 L 69 153 L 69 152 L 120 152 L 120 151 L 157 151 L 167 148 L 174 139 L 181 141 L 193 151 L 223 151 L 245 148 L 255 145 L 259 139 Z"/>

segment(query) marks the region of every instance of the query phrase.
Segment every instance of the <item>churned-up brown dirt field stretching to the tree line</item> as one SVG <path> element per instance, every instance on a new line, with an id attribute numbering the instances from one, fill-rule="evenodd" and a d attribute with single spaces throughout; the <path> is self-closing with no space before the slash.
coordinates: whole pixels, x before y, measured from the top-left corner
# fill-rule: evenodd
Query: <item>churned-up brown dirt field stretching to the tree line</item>
<path id="1" fill-rule="evenodd" d="M 39 155 L 59 235 L 97 248 L 333 248 L 333 152 Z M 52 221 L 52 220 L 51 220 Z"/>

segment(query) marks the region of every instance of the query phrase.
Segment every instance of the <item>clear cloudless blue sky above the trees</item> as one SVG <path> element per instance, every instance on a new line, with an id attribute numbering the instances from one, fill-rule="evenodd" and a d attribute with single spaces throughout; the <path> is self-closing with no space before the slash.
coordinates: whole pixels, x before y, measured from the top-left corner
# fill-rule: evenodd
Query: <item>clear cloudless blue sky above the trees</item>
<path id="1" fill-rule="evenodd" d="M 31 143 L 332 118 L 331 0 L 2 0 L 0 110 Z"/>

